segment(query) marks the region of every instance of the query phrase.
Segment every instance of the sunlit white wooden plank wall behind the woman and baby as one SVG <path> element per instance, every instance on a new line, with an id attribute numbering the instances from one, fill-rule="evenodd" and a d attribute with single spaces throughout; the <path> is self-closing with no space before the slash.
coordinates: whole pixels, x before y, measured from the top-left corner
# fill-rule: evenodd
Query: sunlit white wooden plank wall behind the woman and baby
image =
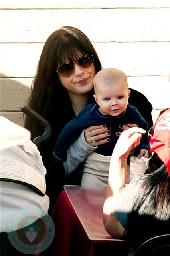
<path id="1" fill-rule="evenodd" d="M 1 115 L 23 125 L 36 66 L 48 36 L 75 26 L 91 40 L 103 68 L 128 76 L 152 103 L 155 121 L 170 107 L 170 0 L 1 0 Z"/>

